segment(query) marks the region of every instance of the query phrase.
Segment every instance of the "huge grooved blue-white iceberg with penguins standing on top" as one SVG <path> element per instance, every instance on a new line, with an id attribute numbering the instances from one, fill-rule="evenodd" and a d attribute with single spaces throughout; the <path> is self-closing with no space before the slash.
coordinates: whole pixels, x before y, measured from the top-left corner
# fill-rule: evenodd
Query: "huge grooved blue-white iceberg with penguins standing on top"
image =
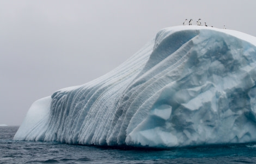
<path id="1" fill-rule="evenodd" d="M 178 26 L 113 71 L 37 100 L 14 140 L 133 147 L 256 142 L 256 37 Z"/>

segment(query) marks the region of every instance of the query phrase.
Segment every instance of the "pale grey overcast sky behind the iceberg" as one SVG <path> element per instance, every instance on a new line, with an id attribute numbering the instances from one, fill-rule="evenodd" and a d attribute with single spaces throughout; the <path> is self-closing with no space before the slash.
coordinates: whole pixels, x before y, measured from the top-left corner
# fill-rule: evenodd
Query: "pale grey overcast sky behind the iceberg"
<path id="1" fill-rule="evenodd" d="M 31 104 L 87 83 L 135 54 L 157 31 L 198 18 L 256 36 L 256 1 L 0 0 L 0 124 Z"/>

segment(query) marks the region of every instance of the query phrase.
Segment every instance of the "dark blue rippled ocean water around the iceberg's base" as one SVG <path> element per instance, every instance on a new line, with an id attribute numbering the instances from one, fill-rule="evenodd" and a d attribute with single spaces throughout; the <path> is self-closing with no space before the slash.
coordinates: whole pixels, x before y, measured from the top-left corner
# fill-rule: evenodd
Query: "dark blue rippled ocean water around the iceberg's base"
<path id="1" fill-rule="evenodd" d="M 256 144 L 168 150 L 13 141 L 18 127 L 0 127 L 0 163 L 256 163 Z"/>

